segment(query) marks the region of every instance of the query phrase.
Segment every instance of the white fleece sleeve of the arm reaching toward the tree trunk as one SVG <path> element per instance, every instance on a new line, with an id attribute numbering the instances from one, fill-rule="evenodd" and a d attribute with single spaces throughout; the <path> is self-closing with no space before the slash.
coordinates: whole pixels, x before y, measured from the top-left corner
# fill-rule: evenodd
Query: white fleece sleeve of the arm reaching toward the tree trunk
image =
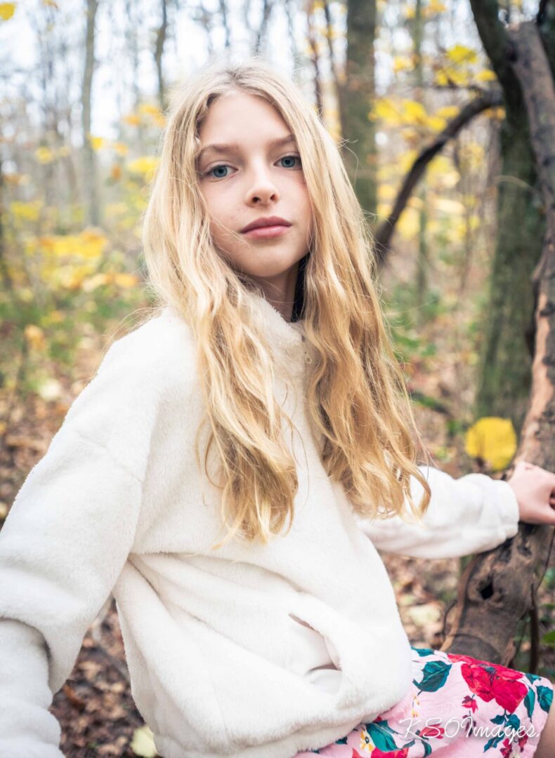
<path id="1" fill-rule="evenodd" d="M 361 530 L 378 550 L 415 558 L 454 558 L 492 550 L 518 531 L 519 506 L 512 487 L 485 474 L 455 479 L 439 468 L 418 468 L 430 485 L 430 504 L 418 524 L 406 504 L 408 523 L 400 516 L 355 515 Z M 415 506 L 424 488 L 411 479 Z"/>

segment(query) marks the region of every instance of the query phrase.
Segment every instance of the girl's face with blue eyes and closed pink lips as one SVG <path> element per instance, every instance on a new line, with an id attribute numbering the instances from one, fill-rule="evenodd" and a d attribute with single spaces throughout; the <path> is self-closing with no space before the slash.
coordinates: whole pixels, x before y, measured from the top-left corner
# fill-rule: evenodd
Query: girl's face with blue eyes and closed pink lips
<path id="1" fill-rule="evenodd" d="M 210 105 L 199 137 L 197 171 L 214 243 L 236 270 L 286 293 L 312 232 L 311 203 L 289 127 L 263 98 L 234 91 Z M 245 230 L 270 217 L 280 221 Z"/>

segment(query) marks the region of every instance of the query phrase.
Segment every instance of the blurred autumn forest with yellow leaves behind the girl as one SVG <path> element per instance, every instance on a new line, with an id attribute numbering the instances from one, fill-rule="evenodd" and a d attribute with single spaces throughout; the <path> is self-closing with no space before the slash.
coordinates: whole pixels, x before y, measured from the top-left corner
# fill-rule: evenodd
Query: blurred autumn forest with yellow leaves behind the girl
<path id="1" fill-rule="evenodd" d="M 538 13 L 539 11 L 539 13 Z M 342 148 L 421 431 L 459 476 L 509 465 L 531 389 L 545 219 L 510 24 L 527 0 L 0 3 L 0 524 L 110 340 L 150 305 L 140 219 L 168 92 L 211 56 L 261 53 Z M 440 647 L 465 560 L 385 556 L 413 644 Z M 553 561 L 553 559 L 552 559 Z M 538 673 L 555 681 L 555 561 Z M 529 669 L 523 619 L 513 667 Z M 111 601 L 55 696 L 68 756 L 156 755 Z"/>

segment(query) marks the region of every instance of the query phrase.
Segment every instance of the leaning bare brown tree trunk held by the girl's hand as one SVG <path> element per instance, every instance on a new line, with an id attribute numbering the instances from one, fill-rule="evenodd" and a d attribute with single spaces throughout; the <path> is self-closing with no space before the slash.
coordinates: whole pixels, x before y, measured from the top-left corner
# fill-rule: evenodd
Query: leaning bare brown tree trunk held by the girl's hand
<path id="1" fill-rule="evenodd" d="M 523 23 L 509 33 L 547 213 L 543 253 L 531 286 L 536 327 L 531 396 L 515 462 L 555 471 L 555 89 L 535 25 Z M 552 527 L 522 524 L 512 540 L 475 556 L 459 584 L 456 618 L 442 650 L 509 664 L 517 622 L 535 609 L 552 543 Z"/>

